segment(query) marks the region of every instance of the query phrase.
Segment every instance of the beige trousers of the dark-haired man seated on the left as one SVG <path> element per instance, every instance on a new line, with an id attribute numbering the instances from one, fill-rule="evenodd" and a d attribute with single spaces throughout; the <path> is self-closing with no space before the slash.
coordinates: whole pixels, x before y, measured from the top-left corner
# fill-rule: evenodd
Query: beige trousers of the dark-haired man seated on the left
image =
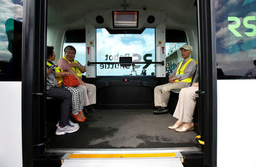
<path id="1" fill-rule="evenodd" d="M 96 104 L 96 86 L 85 83 L 85 86 L 79 85 L 79 87 L 84 89 L 84 106 Z"/>

